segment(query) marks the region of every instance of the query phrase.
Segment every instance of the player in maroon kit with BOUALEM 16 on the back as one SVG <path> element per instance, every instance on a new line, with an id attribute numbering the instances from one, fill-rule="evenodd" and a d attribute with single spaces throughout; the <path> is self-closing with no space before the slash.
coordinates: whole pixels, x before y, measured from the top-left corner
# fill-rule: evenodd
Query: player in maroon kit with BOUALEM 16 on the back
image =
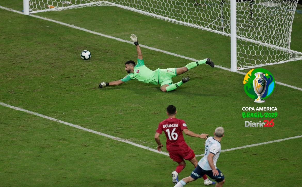
<path id="1" fill-rule="evenodd" d="M 194 167 L 198 165 L 198 161 L 195 157 L 194 151 L 186 144 L 182 132 L 188 136 L 207 139 L 207 134 L 195 134 L 189 131 L 187 124 L 182 119 L 177 119 L 176 108 L 173 105 L 167 107 L 168 118 L 159 123 L 158 128 L 155 133 L 155 141 L 157 143 L 157 150 L 161 151 L 163 145 L 160 143 L 159 135 L 162 131 L 165 132 L 167 142 L 167 151 L 169 151 L 170 158 L 178 163 L 175 171 L 172 172 L 172 182 L 177 184 L 178 173 L 180 173 L 186 166 L 185 160 L 189 160 Z M 184 160 L 185 159 L 185 160 Z M 206 175 L 202 177 L 204 179 L 205 185 L 215 184 L 215 182 L 210 181 Z"/>

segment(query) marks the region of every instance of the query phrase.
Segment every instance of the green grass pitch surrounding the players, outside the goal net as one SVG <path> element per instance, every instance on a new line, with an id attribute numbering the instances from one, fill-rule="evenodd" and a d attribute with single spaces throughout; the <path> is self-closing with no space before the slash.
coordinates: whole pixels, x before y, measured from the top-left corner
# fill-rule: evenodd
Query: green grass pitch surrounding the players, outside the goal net
<path id="1" fill-rule="evenodd" d="M 20 0 L 1 6 L 21 11 Z M 141 44 L 195 59 L 210 57 L 230 68 L 230 38 L 172 24 L 117 7 L 89 7 L 38 13 L 64 23 L 124 40 L 135 33 Z M 247 128 L 242 107 L 260 106 L 246 96 L 244 75 L 198 66 L 191 80 L 170 93 L 130 81 L 93 89 L 127 73 L 124 62 L 137 57 L 133 45 L 35 17 L 0 9 L 0 102 L 156 148 L 165 108 L 177 107 L 196 133 L 225 128 L 222 149 L 302 135 L 302 91 L 276 85 L 261 106 L 278 108 L 272 128 Z M 302 51 L 302 14 L 295 14 L 291 49 Z M 80 52 L 92 58 L 84 61 Z M 148 68 L 182 67 L 189 60 L 142 48 Z M 302 88 L 301 60 L 265 66 L 275 80 Z M 248 70 L 246 70 L 247 72 Z M 182 77 L 173 78 L 174 82 Z M 172 186 L 176 163 L 166 155 L 0 106 L 0 186 Z M 165 142 L 165 136 L 161 135 Z M 196 154 L 204 140 L 185 136 Z M 222 152 L 217 166 L 224 186 L 301 186 L 301 138 Z M 165 147 L 163 149 L 165 152 Z M 198 160 L 201 157 L 198 157 Z M 187 162 L 179 178 L 194 167 Z M 202 179 L 187 186 L 203 185 Z"/>

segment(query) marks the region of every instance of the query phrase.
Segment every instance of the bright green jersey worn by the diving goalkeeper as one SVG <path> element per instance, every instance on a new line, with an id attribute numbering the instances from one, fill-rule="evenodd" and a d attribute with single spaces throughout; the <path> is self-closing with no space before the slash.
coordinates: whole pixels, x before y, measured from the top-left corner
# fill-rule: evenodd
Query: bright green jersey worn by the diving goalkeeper
<path id="1" fill-rule="evenodd" d="M 144 60 L 137 59 L 137 65 L 134 67 L 134 73 L 127 74 L 121 81 L 127 82 L 133 79 L 142 81 L 144 83 L 158 84 L 158 71 L 150 70 L 144 64 Z"/>

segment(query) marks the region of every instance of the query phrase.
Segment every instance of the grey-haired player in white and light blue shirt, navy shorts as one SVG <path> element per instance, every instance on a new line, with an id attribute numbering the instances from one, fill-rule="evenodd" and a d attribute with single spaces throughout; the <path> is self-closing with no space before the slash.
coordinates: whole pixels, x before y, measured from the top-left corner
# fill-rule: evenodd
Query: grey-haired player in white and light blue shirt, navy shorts
<path id="1" fill-rule="evenodd" d="M 214 132 L 214 137 L 211 136 L 206 140 L 204 157 L 199 160 L 198 166 L 192 171 L 190 176 L 183 178 L 174 187 L 183 187 L 188 182 L 201 178 L 204 174 L 217 182 L 215 187 L 223 186 L 225 182 L 224 176 L 216 167 L 216 162 L 221 151 L 220 141 L 223 136 L 223 127 L 217 127 Z"/>

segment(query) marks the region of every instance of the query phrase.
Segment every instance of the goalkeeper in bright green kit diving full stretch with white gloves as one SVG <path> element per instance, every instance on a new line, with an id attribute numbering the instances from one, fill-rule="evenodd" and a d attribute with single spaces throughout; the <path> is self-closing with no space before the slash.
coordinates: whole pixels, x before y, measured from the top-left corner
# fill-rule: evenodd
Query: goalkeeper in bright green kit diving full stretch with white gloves
<path id="1" fill-rule="evenodd" d="M 111 82 L 101 82 L 99 84 L 100 88 L 105 86 L 116 86 L 119 84 L 123 84 L 130 80 L 138 80 L 144 83 L 151 83 L 151 84 L 160 84 L 160 90 L 163 92 L 169 92 L 175 90 L 183 83 L 186 83 L 190 80 L 190 78 L 182 78 L 182 81 L 178 83 L 172 84 L 172 78 L 176 77 L 177 75 L 183 74 L 188 70 L 201 65 L 201 64 L 208 64 L 212 68 L 214 68 L 214 62 L 212 62 L 209 58 L 199 60 L 197 62 L 191 62 L 185 65 L 182 68 L 168 68 L 168 69 L 156 69 L 154 71 L 147 68 L 144 64 L 143 54 L 140 50 L 140 46 L 137 42 L 137 36 L 135 34 L 131 34 L 131 40 L 134 42 L 137 50 L 137 64 L 133 60 L 129 60 L 125 62 L 125 70 L 127 71 L 126 77 L 118 80 L 118 81 L 111 81 Z"/>

